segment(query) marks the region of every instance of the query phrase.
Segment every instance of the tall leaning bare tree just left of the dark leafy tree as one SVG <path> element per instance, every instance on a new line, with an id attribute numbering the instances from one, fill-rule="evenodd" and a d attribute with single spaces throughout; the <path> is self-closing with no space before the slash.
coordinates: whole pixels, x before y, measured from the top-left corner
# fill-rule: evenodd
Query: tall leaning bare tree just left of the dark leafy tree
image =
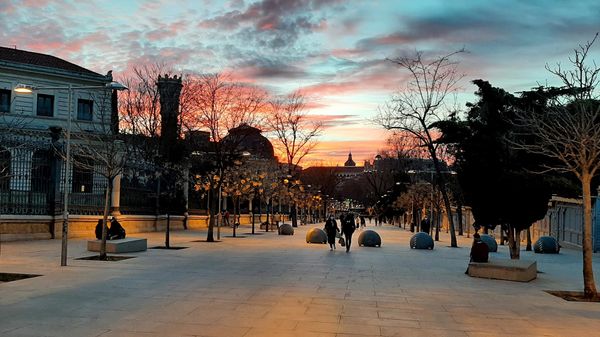
<path id="1" fill-rule="evenodd" d="M 463 77 L 457 71 L 457 62 L 453 60 L 463 52 L 464 49 L 461 49 L 431 60 L 426 59 L 422 52 L 416 52 L 412 56 L 390 60 L 409 73 L 409 80 L 404 90 L 398 91 L 380 108 L 377 117 L 377 122 L 388 130 L 412 134 L 419 140 L 420 146 L 429 152 L 437 173 L 436 185 L 444 198 L 452 247 L 457 247 L 456 233 L 443 167 L 437 152 L 439 132 L 434 123 L 445 117 L 446 98 L 456 90 Z"/>

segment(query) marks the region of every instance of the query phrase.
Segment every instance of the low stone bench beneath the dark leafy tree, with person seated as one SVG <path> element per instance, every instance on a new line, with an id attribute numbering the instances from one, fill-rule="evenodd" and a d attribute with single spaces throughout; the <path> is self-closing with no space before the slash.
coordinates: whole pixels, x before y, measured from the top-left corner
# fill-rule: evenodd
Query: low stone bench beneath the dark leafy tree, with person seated
<path id="1" fill-rule="evenodd" d="M 490 259 L 489 262 L 470 262 L 469 276 L 529 282 L 537 277 L 537 263 L 536 261 L 509 259 Z"/>

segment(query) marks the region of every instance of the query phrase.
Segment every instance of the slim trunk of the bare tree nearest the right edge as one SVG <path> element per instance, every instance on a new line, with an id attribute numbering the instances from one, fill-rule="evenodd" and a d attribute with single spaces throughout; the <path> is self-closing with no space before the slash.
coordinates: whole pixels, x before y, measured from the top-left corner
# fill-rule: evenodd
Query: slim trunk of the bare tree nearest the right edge
<path id="1" fill-rule="evenodd" d="M 581 176 L 583 189 L 583 240 L 581 249 L 583 251 L 583 293 L 586 298 L 598 296 L 596 282 L 594 281 L 594 270 L 592 267 L 592 176 L 584 172 Z"/>

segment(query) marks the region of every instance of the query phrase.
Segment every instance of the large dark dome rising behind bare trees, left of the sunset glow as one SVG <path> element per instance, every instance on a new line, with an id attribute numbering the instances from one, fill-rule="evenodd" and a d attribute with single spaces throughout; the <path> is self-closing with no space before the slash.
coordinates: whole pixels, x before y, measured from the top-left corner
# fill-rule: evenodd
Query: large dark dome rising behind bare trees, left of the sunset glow
<path id="1" fill-rule="evenodd" d="M 229 130 L 229 134 L 223 138 L 225 150 L 228 151 L 227 147 L 235 147 L 235 152 L 248 151 L 253 157 L 273 159 L 273 145 L 261 132 L 248 124 L 241 124 Z"/>

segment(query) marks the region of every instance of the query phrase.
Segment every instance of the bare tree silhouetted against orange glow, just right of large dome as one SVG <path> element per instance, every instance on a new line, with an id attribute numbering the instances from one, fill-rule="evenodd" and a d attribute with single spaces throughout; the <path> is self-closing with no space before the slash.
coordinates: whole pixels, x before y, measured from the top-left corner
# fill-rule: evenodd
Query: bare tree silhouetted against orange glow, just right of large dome
<path id="1" fill-rule="evenodd" d="M 285 156 L 288 175 L 293 176 L 302 159 L 317 145 L 323 124 L 306 115 L 306 98 L 299 92 L 271 102 L 273 113 L 267 123 Z M 292 207 L 292 225 L 297 226 L 296 207 Z"/>

